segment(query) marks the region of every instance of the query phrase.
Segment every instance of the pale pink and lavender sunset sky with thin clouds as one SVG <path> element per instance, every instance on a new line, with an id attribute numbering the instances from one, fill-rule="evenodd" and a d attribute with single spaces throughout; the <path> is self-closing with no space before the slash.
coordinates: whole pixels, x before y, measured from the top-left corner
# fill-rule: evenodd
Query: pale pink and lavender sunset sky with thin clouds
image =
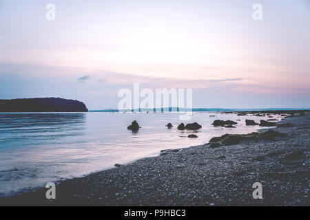
<path id="1" fill-rule="evenodd" d="M 309 108 L 310 3 L 0 0 L 0 99 L 116 109 L 134 83 L 193 89 L 196 108 Z"/>

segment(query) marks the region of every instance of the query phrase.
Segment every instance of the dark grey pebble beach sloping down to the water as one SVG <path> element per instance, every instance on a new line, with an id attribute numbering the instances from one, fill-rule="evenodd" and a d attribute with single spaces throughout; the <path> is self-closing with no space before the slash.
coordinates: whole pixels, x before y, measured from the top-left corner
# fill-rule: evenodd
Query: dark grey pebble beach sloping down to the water
<path id="1" fill-rule="evenodd" d="M 59 181 L 55 200 L 39 188 L 0 198 L 0 205 L 309 206 L 309 112 L 280 123 L 294 125 L 273 129 L 286 137 L 165 151 Z M 252 197 L 255 182 L 262 184 L 262 199 Z"/>

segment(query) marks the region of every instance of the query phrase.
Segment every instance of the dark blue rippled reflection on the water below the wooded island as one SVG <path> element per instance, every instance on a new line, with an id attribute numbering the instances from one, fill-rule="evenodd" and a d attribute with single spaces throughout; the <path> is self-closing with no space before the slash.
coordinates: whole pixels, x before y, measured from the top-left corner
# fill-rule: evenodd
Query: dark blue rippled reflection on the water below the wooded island
<path id="1" fill-rule="evenodd" d="M 1 113 L 0 148 L 83 135 L 85 113 Z"/>

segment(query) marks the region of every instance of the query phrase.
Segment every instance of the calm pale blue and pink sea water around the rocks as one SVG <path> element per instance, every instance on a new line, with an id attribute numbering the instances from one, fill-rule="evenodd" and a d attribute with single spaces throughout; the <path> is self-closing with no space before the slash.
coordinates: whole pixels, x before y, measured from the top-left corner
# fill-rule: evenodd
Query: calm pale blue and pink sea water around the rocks
<path id="1" fill-rule="evenodd" d="M 185 124 L 198 122 L 203 129 L 198 138 L 189 139 L 193 131 L 176 129 L 178 113 L 0 113 L 0 195 L 81 177 L 158 155 L 163 149 L 204 144 L 217 135 L 260 129 L 245 126 L 246 118 L 267 119 L 194 113 Z M 236 129 L 227 129 L 212 126 L 216 119 L 240 121 Z M 142 126 L 138 133 L 127 130 L 133 120 Z M 173 129 L 167 129 L 168 122 Z"/>

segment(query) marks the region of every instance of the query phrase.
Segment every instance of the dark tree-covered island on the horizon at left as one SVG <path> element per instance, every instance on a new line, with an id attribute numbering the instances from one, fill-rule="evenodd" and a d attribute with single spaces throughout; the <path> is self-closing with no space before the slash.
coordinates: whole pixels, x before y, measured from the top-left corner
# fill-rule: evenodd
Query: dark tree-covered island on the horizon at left
<path id="1" fill-rule="evenodd" d="M 0 112 L 87 112 L 83 102 L 64 98 L 0 100 Z"/>

